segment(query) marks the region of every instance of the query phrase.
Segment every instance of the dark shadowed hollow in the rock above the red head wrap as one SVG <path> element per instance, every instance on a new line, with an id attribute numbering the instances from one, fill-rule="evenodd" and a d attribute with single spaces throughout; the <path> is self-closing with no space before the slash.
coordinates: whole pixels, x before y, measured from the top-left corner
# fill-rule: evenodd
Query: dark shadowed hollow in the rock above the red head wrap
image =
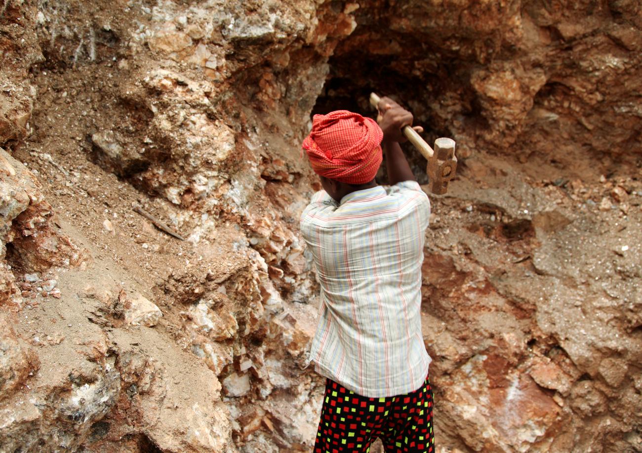
<path id="1" fill-rule="evenodd" d="M 325 84 L 310 119 L 342 109 L 376 118 L 369 101 L 374 92 L 390 96 L 412 112 L 414 125 L 423 127 L 421 136 L 431 147 L 439 137 L 453 138 L 453 115 L 458 123 L 477 121 L 479 114 L 469 102 L 474 95 L 469 93 L 469 84 L 462 83 L 467 65 L 428 37 L 395 29 L 389 23 L 388 6 L 373 8 L 354 13 L 356 28 L 329 58 Z M 427 184 L 426 159 L 410 143 L 402 148 L 417 181 Z M 385 163 L 377 181 L 388 181 Z"/>

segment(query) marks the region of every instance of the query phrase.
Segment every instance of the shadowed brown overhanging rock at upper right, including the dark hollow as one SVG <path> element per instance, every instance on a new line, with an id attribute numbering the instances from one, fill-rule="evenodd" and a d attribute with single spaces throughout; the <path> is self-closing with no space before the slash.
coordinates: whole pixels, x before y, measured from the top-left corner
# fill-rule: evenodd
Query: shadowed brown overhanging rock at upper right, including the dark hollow
<path id="1" fill-rule="evenodd" d="M 329 107 L 338 98 L 366 110 L 370 91 L 397 94 L 431 136 L 454 138 L 462 157 L 484 151 L 565 166 L 603 156 L 636 164 L 640 8 L 634 1 L 362 3 L 356 30 L 330 60 L 325 96 Z"/>

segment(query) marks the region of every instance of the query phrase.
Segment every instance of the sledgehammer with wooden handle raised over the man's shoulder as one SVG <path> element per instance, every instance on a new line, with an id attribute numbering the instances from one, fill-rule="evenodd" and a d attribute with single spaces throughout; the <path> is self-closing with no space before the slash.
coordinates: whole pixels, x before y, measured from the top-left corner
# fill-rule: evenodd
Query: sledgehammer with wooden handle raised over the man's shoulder
<path id="1" fill-rule="evenodd" d="M 372 107 L 378 109 L 379 101 L 381 101 L 379 96 L 370 93 L 370 105 Z M 435 140 L 435 150 L 433 150 L 412 127 L 404 126 L 401 131 L 408 141 L 428 160 L 426 172 L 430 179 L 430 191 L 437 195 L 444 195 L 448 190 L 448 183 L 455 176 L 455 170 L 457 169 L 455 140 L 446 137 L 438 138 Z"/>

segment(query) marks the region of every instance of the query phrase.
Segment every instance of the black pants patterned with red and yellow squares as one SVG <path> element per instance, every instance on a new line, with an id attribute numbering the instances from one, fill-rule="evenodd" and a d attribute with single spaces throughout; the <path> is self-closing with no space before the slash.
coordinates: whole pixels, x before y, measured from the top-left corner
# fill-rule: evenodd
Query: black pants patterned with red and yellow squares
<path id="1" fill-rule="evenodd" d="M 433 453 L 433 391 L 428 377 L 404 395 L 368 398 L 326 378 L 314 453 L 367 453 L 381 438 L 386 453 Z"/>

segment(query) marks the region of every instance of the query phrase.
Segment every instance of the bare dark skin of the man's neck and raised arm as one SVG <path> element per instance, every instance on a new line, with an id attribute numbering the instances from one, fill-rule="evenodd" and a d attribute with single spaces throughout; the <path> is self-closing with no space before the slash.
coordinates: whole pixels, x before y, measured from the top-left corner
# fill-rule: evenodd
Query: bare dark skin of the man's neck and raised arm
<path id="1" fill-rule="evenodd" d="M 406 125 L 412 125 L 412 113 L 392 99 L 386 97 L 381 98 L 377 108 L 379 110 L 377 123 L 379 123 L 381 130 L 383 130 L 381 148 L 383 148 L 383 152 L 386 155 L 388 182 L 392 185 L 402 181 L 415 181 L 415 175 L 413 175 L 412 170 L 410 170 L 406 156 L 399 146 L 399 143 L 406 141 L 403 132 L 401 132 L 401 128 Z M 423 132 L 424 130 L 421 126 L 415 126 L 413 129 L 417 132 Z M 347 184 L 347 182 L 336 181 L 324 176 L 320 176 L 320 178 L 321 186 L 328 195 L 333 197 L 337 202 L 341 202 L 341 199 L 349 193 L 377 186 L 374 179 L 365 184 Z"/>

